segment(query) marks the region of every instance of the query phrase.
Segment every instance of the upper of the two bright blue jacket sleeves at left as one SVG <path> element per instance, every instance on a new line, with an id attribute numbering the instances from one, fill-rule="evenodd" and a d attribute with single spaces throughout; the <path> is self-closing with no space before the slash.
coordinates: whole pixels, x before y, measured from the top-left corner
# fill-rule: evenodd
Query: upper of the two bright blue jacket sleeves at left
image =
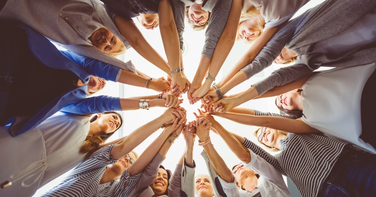
<path id="1" fill-rule="evenodd" d="M 120 70 L 119 67 L 103 63 L 99 60 L 77 55 L 69 50 L 61 50 L 60 52 L 81 66 L 90 75 L 103 78 L 106 81 L 115 81 Z"/>

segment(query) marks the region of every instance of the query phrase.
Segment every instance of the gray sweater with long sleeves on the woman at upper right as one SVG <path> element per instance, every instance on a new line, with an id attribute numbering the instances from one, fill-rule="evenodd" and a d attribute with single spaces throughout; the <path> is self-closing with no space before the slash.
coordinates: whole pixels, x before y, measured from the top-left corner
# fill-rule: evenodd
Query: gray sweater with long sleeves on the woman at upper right
<path id="1" fill-rule="evenodd" d="M 374 0 L 327 0 L 281 26 L 252 63 L 241 70 L 248 78 L 261 72 L 271 65 L 283 47 L 300 55 L 293 66 L 275 70 L 253 85 L 259 95 L 262 95 L 275 86 L 297 81 L 320 66 L 349 67 L 372 63 L 376 61 L 374 45 L 358 47 L 336 56 L 312 51 L 315 43 L 330 40 L 345 31 L 373 11 L 375 6 Z"/>

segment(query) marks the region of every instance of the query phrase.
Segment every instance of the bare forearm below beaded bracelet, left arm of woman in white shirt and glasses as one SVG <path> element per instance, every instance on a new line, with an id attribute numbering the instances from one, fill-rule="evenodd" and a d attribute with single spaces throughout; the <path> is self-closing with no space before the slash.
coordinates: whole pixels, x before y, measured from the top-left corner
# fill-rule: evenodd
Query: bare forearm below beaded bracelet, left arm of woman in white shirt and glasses
<path id="1" fill-rule="evenodd" d="M 226 182 L 233 182 L 234 177 L 232 176 L 231 170 L 226 166 L 226 163 L 214 149 L 213 145 L 209 143 L 204 145 L 203 148 L 209 157 L 210 163 L 215 173 L 217 173 Z"/>

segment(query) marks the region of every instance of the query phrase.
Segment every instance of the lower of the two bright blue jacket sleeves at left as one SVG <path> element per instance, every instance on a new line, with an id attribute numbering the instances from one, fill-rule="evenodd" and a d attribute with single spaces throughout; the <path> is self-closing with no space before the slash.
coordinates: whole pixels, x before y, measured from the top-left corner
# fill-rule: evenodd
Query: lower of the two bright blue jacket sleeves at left
<path id="1" fill-rule="evenodd" d="M 121 111 L 120 98 L 112 96 L 93 96 L 65 105 L 60 111 L 74 115 Z"/>

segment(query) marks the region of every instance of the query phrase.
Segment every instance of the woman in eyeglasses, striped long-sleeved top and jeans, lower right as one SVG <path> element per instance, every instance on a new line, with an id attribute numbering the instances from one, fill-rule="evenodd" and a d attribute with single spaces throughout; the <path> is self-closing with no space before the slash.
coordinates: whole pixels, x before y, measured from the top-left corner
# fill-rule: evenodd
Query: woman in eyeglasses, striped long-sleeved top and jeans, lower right
<path id="1" fill-rule="evenodd" d="M 259 118 L 286 117 L 245 108 L 213 115 L 245 125 L 255 125 L 251 118 L 253 115 Z M 262 127 L 256 131 L 259 141 L 268 148 L 280 150 L 278 154 L 271 155 L 250 140 L 234 133 L 232 135 L 289 177 L 303 197 L 376 195 L 376 155 L 354 148 L 351 144 L 323 134 L 288 133 L 284 136 L 280 131 Z"/>

